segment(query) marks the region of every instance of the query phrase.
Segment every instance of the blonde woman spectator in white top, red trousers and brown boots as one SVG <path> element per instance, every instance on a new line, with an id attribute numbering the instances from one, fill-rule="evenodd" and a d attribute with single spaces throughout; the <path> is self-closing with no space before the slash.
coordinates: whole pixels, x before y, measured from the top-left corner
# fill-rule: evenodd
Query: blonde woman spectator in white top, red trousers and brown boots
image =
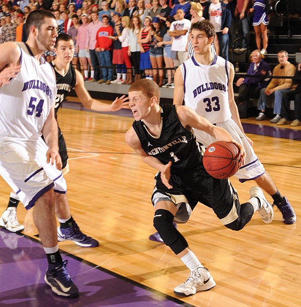
<path id="1" fill-rule="evenodd" d="M 126 66 L 126 79 L 123 84 L 133 83 L 133 70 L 128 56 L 129 47 L 129 25 L 130 19 L 128 16 L 121 17 L 122 33 L 119 32 L 119 28 L 116 28 L 118 40 L 121 42 L 122 56 Z"/>

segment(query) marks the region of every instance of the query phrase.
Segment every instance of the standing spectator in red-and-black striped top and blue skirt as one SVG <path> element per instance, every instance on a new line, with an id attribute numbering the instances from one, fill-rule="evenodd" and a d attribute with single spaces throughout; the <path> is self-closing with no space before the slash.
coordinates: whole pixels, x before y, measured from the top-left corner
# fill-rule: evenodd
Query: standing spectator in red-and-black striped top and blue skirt
<path id="1" fill-rule="evenodd" d="M 140 46 L 140 69 L 144 70 L 144 75 L 146 79 L 153 80 L 152 63 L 150 63 L 149 59 L 149 32 L 151 30 L 153 30 L 152 17 L 146 16 L 144 18 L 144 29 L 140 31 L 138 39 L 138 43 Z"/>

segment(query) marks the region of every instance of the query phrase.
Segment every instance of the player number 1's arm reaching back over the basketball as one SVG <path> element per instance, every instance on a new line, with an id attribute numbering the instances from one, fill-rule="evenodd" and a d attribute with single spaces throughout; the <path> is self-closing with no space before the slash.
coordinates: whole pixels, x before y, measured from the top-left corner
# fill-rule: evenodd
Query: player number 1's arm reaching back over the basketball
<path id="1" fill-rule="evenodd" d="M 240 153 L 245 159 L 245 150 L 243 146 L 237 143 L 231 134 L 223 128 L 211 124 L 206 118 L 199 116 L 194 110 L 186 106 L 177 106 L 178 117 L 184 127 L 196 128 L 203 130 L 213 136 L 218 141 L 227 141 L 234 143 L 239 149 Z"/>

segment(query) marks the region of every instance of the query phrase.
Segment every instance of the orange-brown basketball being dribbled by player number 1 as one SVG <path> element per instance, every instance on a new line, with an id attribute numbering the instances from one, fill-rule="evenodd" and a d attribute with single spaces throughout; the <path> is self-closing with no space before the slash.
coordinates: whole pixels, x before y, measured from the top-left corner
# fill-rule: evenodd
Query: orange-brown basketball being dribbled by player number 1
<path id="1" fill-rule="evenodd" d="M 208 146 L 203 157 L 204 167 L 209 175 L 218 179 L 233 176 L 241 166 L 238 147 L 230 142 L 217 141 Z"/>

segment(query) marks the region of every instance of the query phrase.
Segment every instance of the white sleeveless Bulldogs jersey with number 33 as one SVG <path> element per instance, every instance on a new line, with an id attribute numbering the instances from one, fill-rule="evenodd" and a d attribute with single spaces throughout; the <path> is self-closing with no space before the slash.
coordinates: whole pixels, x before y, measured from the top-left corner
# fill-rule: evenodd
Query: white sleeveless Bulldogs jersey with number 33
<path id="1" fill-rule="evenodd" d="M 185 105 L 212 124 L 230 119 L 229 62 L 214 56 L 211 65 L 202 65 L 193 56 L 181 64 L 180 68 L 184 80 Z"/>

